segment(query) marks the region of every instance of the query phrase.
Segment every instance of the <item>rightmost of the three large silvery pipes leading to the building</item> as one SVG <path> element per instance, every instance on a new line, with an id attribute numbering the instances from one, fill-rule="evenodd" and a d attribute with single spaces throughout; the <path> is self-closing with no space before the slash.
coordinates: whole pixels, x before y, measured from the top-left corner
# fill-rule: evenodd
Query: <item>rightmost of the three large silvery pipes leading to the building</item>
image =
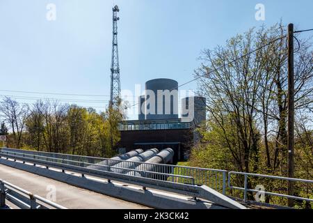
<path id="1" fill-rule="evenodd" d="M 136 171 L 129 171 L 127 175 L 143 176 L 145 171 L 157 171 L 161 173 L 166 172 L 168 170 L 162 169 L 162 167 L 157 168 L 156 164 L 167 164 L 172 160 L 173 156 L 174 151 L 172 150 L 172 148 L 163 149 L 160 153 L 151 157 L 144 164 L 141 164 L 138 167 L 136 167 Z"/>

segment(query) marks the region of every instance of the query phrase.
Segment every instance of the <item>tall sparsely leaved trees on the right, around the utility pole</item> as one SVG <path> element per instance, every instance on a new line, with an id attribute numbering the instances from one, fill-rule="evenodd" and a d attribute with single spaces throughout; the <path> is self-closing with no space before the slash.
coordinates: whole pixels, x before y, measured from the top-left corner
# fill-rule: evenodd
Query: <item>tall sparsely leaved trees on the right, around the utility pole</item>
<path id="1" fill-rule="evenodd" d="M 285 31 L 281 23 L 268 29 L 262 26 L 231 38 L 225 47 L 203 51 L 203 63 L 195 70 L 195 78 L 200 94 L 207 98 L 208 121 L 199 129 L 202 141 L 191 151 L 191 166 L 287 176 L 287 47 L 285 38 L 278 39 Z M 313 134 L 308 129 L 312 126 L 312 38 L 297 36 L 297 40 L 294 176 L 312 179 Z M 234 183 L 242 187 L 243 178 L 235 178 Z M 256 185 L 287 194 L 286 180 L 248 178 L 248 187 L 254 189 Z M 312 197 L 312 185 L 296 183 L 294 194 Z M 252 194 L 248 196 L 253 199 Z M 284 205 L 286 201 L 266 197 L 268 203 Z M 296 206 L 311 207 L 300 201 Z"/>

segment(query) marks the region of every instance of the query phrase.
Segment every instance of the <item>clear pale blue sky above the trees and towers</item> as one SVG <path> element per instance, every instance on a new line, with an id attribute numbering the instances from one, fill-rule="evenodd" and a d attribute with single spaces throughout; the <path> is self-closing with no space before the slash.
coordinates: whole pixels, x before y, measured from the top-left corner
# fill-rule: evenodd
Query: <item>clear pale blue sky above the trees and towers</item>
<path id="1" fill-rule="evenodd" d="M 46 18 L 48 3 L 56 5 L 56 21 Z M 193 79 L 202 49 L 224 45 L 252 26 L 282 19 L 298 29 L 313 28 L 312 0 L 0 0 L 0 90 L 107 96 L 0 95 L 103 100 L 77 104 L 104 110 L 114 3 L 120 7 L 121 88 L 131 91 L 159 77 L 179 84 Z M 265 21 L 255 20 L 257 3 L 265 6 Z M 196 86 L 193 82 L 183 89 Z"/>

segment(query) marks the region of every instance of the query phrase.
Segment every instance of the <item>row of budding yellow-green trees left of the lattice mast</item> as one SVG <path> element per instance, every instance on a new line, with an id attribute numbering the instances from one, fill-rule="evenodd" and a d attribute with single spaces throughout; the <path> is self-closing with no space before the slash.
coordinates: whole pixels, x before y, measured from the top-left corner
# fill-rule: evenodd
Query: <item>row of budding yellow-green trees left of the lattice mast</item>
<path id="1" fill-rule="evenodd" d="M 120 140 L 122 115 L 113 109 L 38 100 L 29 105 L 5 97 L 0 101 L 0 134 L 6 146 L 53 153 L 111 157 Z"/>

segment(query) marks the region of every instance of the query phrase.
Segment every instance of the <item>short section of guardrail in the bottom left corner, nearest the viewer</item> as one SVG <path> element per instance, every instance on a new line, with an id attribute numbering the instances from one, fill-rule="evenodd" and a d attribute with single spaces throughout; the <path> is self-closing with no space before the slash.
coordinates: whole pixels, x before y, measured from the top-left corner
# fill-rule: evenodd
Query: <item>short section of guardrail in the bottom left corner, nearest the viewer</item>
<path id="1" fill-rule="evenodd" d="M 6 200 L 22 209 L 67 209 L 0 179 L 0 208 L 6 207 Z"/>

